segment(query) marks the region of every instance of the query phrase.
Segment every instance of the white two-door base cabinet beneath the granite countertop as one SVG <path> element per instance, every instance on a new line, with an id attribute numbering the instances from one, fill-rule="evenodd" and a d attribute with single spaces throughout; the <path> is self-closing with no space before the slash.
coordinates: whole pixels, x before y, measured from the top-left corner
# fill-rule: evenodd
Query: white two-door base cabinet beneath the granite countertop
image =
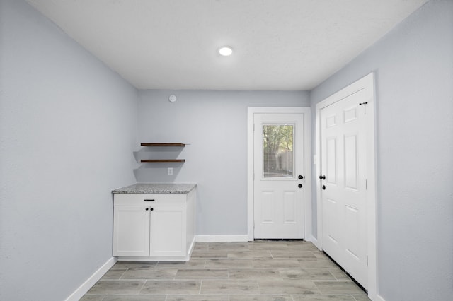
<path id="1" fill-rule="evenodd" d="M 195 189 L 188 194 L 114 194 L 113 256 L 187 261 L 195 244 Z"/>

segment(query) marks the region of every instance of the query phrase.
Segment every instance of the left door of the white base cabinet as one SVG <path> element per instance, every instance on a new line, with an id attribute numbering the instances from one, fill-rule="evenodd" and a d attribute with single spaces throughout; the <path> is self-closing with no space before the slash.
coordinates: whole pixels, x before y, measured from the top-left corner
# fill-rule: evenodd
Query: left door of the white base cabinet
<path id="1" fill-rule="evenodd" d="M 149 256 L 149 207 L 113 207 L 113 256 Z"/>

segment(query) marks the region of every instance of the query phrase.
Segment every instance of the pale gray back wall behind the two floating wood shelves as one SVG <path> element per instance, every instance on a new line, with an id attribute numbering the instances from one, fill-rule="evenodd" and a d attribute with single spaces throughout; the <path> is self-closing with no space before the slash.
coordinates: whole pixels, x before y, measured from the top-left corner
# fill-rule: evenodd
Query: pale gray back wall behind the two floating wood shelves
<path id="1" fill-rule="evenodd" d="M 176 102 L 168 102 L 171 94 Z M 137 158 L 186 161 L 141 165 L 137 182 L 195 182 L 197 235 L 246 235 L 247 107 L 309 107 L 308 93 L 146 90 L 139 96 L 140 142 L 192 144 L 182 151 L 143 148 Z M 175 168 L 173 177 L 167 167 Z"/>

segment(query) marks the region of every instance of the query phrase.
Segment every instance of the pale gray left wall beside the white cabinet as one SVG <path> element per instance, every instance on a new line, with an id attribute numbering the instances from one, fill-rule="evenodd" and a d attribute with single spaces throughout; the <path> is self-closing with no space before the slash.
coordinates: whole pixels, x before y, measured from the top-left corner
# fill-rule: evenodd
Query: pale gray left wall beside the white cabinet
<path id="1" fill-rule="evenodd" d="M 0 300 L 64 300 L 111 258 L 137 90 L 25 1 L 0 30 Z"/>

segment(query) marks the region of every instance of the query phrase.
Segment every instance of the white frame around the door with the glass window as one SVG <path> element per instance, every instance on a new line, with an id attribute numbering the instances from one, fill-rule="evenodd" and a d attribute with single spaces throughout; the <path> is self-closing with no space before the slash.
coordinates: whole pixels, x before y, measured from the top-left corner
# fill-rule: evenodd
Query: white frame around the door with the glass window
<path id="1" fill-rule="evenodd" d="M 253 213 L 254 181 L 253 181 L 253 130 L 255 114 L 303 114 L 304 116 L 304 240 L 311 241 L 311 115 L 309 107 L 248 107 L 247 108 L 247 232 L 248 240 L 253 241 Z"/>

